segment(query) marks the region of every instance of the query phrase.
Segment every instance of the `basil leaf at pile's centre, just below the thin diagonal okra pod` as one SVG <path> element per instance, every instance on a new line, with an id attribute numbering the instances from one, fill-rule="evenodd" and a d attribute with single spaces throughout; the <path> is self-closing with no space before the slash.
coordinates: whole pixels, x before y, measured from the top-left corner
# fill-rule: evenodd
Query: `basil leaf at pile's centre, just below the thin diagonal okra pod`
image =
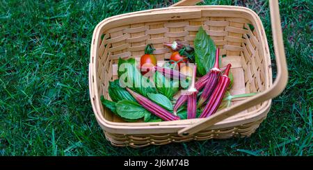
<path id="1" fill-rule="evenodd" d="M 163 67 L 167 67 L 169 69 L 170 66 L 163 65 Z M 163 74 L 156 71 L 154 73 L 154 83 L 157 88 L 157 91 L 164 96 L 168 97 L 168 99 L 172 100 L 172 97 L 179 90 L 179 80 L 170 80 L 170 78 L 166 78 Z"/>

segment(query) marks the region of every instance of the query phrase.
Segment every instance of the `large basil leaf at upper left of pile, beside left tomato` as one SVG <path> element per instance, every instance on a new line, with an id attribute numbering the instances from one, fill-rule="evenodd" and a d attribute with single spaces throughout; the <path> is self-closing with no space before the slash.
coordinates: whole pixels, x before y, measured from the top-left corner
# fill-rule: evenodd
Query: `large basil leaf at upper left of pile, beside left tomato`
<path id="1" fill-rule="evenodd" d="M 141 75 L 141 72 L 137 69 L 138 63 L 134 58 L 129 60 L 118 60 L 118 77 L 120 85 L 123 87 L 129 87 L 131 90 L 147 96 L 147 93 L 157 93 L 154 83 L 145 76 Z"/>

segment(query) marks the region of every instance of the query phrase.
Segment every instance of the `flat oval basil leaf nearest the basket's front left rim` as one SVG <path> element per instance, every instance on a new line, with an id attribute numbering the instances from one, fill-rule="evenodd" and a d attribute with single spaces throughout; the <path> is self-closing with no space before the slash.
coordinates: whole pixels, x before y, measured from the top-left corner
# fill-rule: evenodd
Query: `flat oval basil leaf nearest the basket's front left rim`
<path id="1" fill-rule="evenodd" d="M 125 119 L 141 119 L 145 114 L 151 114 L 134 101 L 122 100 L 116 103 L 116 112 Z"/>

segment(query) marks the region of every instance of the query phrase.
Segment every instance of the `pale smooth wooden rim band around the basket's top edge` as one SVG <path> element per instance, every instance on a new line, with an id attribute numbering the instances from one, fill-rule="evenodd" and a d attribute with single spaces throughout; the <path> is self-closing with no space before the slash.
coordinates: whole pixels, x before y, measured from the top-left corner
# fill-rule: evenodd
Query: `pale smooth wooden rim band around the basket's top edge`
<path id="1" fill-rule="evenodd" d="M 153 129 L 165 129 L 165 128 L 170 128 L 172 132 L 176 132 L 178 129 L 180 128 L 184 128 L 186 126 L 190 126 L 191 124 L 194 124 L 198 121 L 200 121 L 201 119 L 186 119 L 186 120 L 178 120 L 178 121 L 162 121 L 162 122 L 143 122 L 143 123 L 122 123 L 122 122 L 113 122 L 113 121 L 109 121 L 107 119 L 104 118 L 103 114 L 100 110 L 100 106 L 99 104 L 95 104 L 95 103 L 99 103 L 99 95 L 97 92 L 97 78 L 95 78 L 95 80 L 92 80 L 92 74 L 96 73 L 96 62 L 94 61 L 94 53 L 97 52 L 97 42 L 95 40 L 99 40 L 99 32 L 100 30 L 106 25 L 109 24 L 110 22 L 114 22 L 117 21 L 119 19 L 121 19 L 121 17 L 135 17 L 136 15 L 143 15 L 143 14 L 151 14 L 151 15 L 157 15 L 160 12 L 163 11 L 168 11 L 168 10 L 180 10 L 182 11 L 182 9 L 188 8 L 188 10 L 193 9 L 193 10 L 227 10 L 227 11 L 231 11 L 231 10 L 236 10 L 239 12 L 243 12 L 246 15 L 250 15 L 250 17 L 253 18 L 254 22 L 256 22 L 257 24 L 259 24 L 257 26 L 257 31 L 259 31 L 261 36 L 262 41 L 260 41 L 260 44 L 262 46 L 262 49 L 264 50 L 264 56 L 266 59 L 266 63 L 268 65 L 271 65 L 271 58 L 269 57 L 269 50 L 268 50 L 268 42 L 266 39 L 266 34 L 264 31 L 264 26 L 261 22 L 261 19 L 259 18 L 259 16 L 257 15 L 257 13 L 255 13 L 253 10 L 251 10 L 250 8 L 246 8 L 246 7 L 241 7 L 241 6 L 179 6 L 179 7 L 166 7 L 166 8 L 158 8 L 158 9 L 152 9 L 152 10 L 141 10 L 141 11 L 137 11 L 137 12 L 129 12 L 129 13 L 125 13 L 122 15 L 115 15 L 112 17 L 108 17 L 104 20 L 102 20 L 102 22 L 99 22 L 99 24 L 97 24 L 97 26 L 95 27 L 95 30 L 93 32 L 93 39 L 92 39 L 92 43 L 91 43 L 91 49 L 90 49 L 90 64 L 89 64 L 89 90 L 90 90 L 90 101 L 92 103 L 93 106 L 93 112 L 95 114 L 95 117 L 97 119 L 98 124 L 104 129 L 107 130 L 110 133 L 143 133 L 140 130 L 145 130 L 147 131 L 148 129 L 153 130 Z M 125 19 L 125 18 L 122 18 Z M 166 19 L 168 20 L 168 19 Z M 250 20 L 250 19 L 248 19 Z M 252 21 L 250 21 L 252 22 Z M 266 74 L 268 74 L 266 76 L 266 78 L 268 78 L 268 88 L 271 87 L 271 85 L 273 85 L 273 80 L 272 80 L 272 72 L 271 72 L 271 68 L 266 69 Z M 93 89 L 96 90 L 96 92 L 93 92 Z M 94 103 L 95 102 L 95 103 Z M 248 123 L 248 122 L 252 122 L 255 121 L 255 119 L 262 119 L 263 117 L 266 117 L 267 112 L 269 111 L 269 109 L 271 108 L 271 100 L 268 101 L 264 101 L 264 105 L 262 105 L 262 107 L 258 108 L 257 110 L 254 110 L 252 112 L 249 112 L 249 116 L 245 116 L 243 118 L 239 118 L 239 119 L 232 119 L 232 120 L 228 120 L 228 121 L 221 121 L 218 122 L 217 124 L 215 124 L 214 126 L 211 126 L 211 128 L 225 128 L 225 127 L 230 127 L 230 126 L 239 126 L 243 123 Z M 210 129 L 211 129 L 210 128 Z M 139 131 L 136 131 L 139 130 Z M 130 132 L 131 131 L 131 132 Z M 146 132 L 145 132 L 146 133 Z M 154 132 L 156 133 L 156 132 Z"/>

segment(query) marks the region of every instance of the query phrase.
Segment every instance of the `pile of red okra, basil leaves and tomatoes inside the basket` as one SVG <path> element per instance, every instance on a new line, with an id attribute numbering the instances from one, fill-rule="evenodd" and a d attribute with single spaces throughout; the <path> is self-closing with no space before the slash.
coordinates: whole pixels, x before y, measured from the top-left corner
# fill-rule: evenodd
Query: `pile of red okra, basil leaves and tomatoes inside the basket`
<path id="1" fill-rule="evenodd" d="M 220 49 L 202 27 L 193 47 L 181 40 L 164 46 L 172 55 L 162 66 L 152 44 L 147 44 L 140 63 L 118 60 L 118 80 L 108 87 L 111 100 L 101 96 L 104 107 L 125 121 L 175 121 L 210 117 L 233 99 L 254 95 L 230 94 L 231 64 L 220 68 Z"/>

